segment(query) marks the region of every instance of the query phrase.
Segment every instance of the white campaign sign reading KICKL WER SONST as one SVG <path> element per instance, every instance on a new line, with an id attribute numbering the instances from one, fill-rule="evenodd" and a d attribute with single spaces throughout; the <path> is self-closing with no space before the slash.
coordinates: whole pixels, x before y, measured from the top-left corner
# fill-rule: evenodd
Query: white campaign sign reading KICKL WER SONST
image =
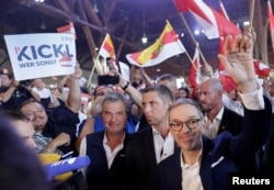
<path id="1" fill-rule="evenodd" d="M 73 34 L 4 35 L 15 80 L 70 75 L 75 71 Z"/>

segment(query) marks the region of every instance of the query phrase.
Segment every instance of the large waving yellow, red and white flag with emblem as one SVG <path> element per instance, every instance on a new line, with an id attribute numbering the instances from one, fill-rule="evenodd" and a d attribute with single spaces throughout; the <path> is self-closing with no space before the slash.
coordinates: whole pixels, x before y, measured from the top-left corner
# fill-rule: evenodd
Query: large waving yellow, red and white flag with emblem
<path id="1" fill-rule="evenodd" d="M 127 54 L 126 58 L 130 64 L 138 67 L 151 67 L 184 52 L 185 48 L 182 42 L 170 22 L 167 21 L 160 37 L 152 45 L 142 52 Z"/>

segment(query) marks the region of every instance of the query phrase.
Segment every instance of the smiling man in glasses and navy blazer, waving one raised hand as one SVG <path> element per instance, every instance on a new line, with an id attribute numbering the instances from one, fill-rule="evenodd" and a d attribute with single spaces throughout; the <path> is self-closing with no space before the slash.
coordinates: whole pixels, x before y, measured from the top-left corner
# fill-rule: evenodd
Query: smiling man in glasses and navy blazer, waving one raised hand
<path id="1" fill-rule="evenodd" d="M 236 36 L 232 46 L 232 37 L 227 36 L 225 56 L 219 55 L 241 92 L 242 132 L 237 136 L 222 132 L 209 139 L 203 135 L 203 113 L 198 104 L 190 99 L 174 102 L 169 112 L 169 125 L 178 147 L 158 165 L 160 189 L 228 189 L 228 175 L 237 172 L 238 167 L 266 143 L 272 105 L 256 81 L 252 55 L 254 38 L 252 29 Z"/>

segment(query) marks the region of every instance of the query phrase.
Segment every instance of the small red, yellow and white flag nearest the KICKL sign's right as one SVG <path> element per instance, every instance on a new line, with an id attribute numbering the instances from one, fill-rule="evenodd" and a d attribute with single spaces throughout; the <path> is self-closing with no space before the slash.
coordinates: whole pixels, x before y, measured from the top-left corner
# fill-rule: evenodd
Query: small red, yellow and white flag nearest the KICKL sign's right
<path id="1" fill-rule="evenodd" d="M 114 45 L 109 33 L 105 35 L 105 38 L 99 49 L 98 55 L 102 56 L 104 59 L 110 57 L 113 63 L 116 63 Z"/>

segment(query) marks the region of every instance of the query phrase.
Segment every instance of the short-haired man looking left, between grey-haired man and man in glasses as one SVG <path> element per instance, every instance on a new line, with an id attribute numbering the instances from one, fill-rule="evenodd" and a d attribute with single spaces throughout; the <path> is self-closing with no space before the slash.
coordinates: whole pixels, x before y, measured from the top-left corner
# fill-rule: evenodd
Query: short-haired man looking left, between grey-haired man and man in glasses
<path id="1" fill-rule="evenodd" d="M 173 94 L 165 86 L 141 90 L 142 113 L 150 126 L 130 136 L 126 150 L 125 190 L 158 190 L 157 165 L 173 154 L 174 139 L 169 133 L 168 109 Z"/>

